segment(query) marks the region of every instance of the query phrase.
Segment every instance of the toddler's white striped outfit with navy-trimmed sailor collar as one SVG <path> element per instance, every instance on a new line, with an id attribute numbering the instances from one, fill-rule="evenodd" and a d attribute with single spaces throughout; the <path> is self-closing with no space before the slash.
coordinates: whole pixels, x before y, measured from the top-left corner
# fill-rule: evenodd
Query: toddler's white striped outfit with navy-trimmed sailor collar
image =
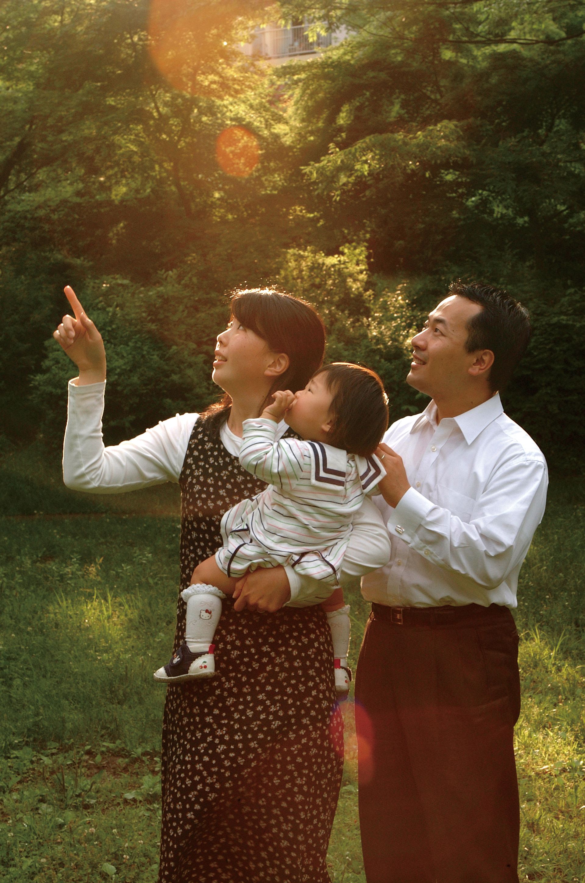
<path id="1" fill-rule="evenodd" d="M 269 487 L 221 520 L 221 570 L 289 564 L 337 585 L 351 519 L 386 474 L 378 457 L 357 457 L 322 442 L 275 441 L 270 419 L 244 420 L 240 463 Z"/>

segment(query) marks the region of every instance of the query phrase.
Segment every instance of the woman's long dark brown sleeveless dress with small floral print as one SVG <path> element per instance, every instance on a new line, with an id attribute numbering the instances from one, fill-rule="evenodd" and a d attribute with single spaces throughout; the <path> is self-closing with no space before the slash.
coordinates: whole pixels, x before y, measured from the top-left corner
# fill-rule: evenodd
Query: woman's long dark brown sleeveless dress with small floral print
<path id="1" fill-rule="evenodd" d="M 266 485 L 208 420 L 181 486 L 181 589 L 221 546 L 221 515 Z M 179 595 L 175 647 L 184 640 Z M 215 632 L 216 675 L 167 688 L 159 883 L 326 883 L 341 785 L 333 650 L 319 606 L 236 613 Z"/>

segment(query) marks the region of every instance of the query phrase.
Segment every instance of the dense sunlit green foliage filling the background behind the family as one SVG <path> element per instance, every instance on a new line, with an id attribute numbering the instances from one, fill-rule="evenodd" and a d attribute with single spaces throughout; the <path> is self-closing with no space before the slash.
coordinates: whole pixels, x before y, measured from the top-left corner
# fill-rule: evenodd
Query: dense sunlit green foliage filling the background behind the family
<path id="1" fill-rule="evenodd" d="M 237 43 L 279 14 L 349 35 L 271 70 Z M 266 283 L 319 306 L 330 357 L 379 370 L 394 417 L 418 410 L 409 336 L 464 276 L 531 309 L 506 406 L 570 464 L 585 441 L 584 21 L 577 0 L 7 0 L 4 432 L 62 432 L 71 369 L 45 342 L 64 283 L 109 343 L 113 440 L 214 396 L 225 292 Z M 225 162 L 234 131 L 251 153 L 236 143 Z"/>

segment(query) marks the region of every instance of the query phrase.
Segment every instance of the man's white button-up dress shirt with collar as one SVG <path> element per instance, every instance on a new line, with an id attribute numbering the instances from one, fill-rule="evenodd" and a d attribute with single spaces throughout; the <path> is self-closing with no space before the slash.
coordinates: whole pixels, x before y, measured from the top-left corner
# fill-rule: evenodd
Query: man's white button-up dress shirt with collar
<path id="1" fill-rule="evenodd" d="M 402 457 L 411 487 L 395 509 L 376 498 L 392 555 L 362 580 L 364 598 L 393 607 L 515 608 L 548 475 L 499 395 L 439 424 L 431 401 L 394 423 L 384 442 Z"/>

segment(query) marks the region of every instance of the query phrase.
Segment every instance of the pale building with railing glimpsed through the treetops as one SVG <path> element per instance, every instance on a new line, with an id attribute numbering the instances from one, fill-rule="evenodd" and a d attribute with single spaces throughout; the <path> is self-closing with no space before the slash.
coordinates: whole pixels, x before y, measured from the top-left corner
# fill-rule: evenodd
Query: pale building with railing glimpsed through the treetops
<path id="1" fill-rule="evenodd" d="M 283 64 L 291 58 L 309 61 L 327 46 L 336 46 L 346 36 L 344 27 L 327 34 L 317 34 L 314 40 L 309 38 L 310 25 L 292 24 L 289 27 L 266 26 L 257 27 L 251 42 L 244 43 L 244 55 L 266 58 L 270 64 Z"/>

